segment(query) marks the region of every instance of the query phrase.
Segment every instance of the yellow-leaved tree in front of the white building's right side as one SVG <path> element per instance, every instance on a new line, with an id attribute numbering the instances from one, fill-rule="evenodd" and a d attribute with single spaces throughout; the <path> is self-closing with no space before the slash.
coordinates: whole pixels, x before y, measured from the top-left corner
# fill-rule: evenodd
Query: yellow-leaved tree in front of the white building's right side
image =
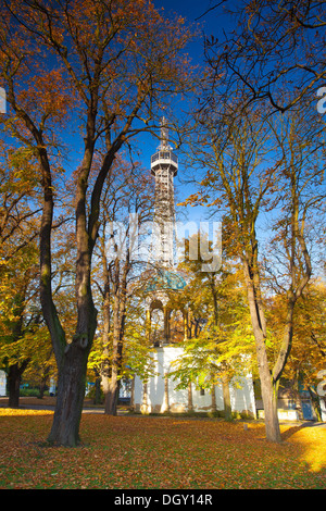
<path id="1" fill-rule="evenodd" d="M 200 244 L 195 235 L 186 240 Z M 209 244 L 211 252 L 212 244 Z M 215 272 L 202 272 L 202 259 L 186 258 L 180 265 L 188 273 L 188 285 L 176 302 L 186 302 L 190 310 L 190 328 L 184 342 L 185 353 L 176 360 L 172 377 L 179 388 L 193 383 L 198 388 L 210 388 L 212 406 L 216 407 L 214 386 L 222 383 L 225 419 L 231 419 L 229 384 L 250 371 L 253 336 L 239 271 L 230 261 L 224 261 Z M 193 328 L 191 328 L 191 326 Z"/>

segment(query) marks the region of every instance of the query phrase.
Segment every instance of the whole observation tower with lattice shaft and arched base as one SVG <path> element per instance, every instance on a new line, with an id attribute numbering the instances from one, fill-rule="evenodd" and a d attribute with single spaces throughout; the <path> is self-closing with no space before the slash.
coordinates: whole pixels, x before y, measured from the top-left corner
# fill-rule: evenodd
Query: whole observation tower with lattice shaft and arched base
<path id="1" fill-rule="evenodd" d="M 146 283 L 148 335 L 156 347 L 176 341 L 171 324 L 174 309 L 171 298 L 187 285 L 181 273 L 174 269 L 174 176 L 177 172 L 178 159 L 168 145 L 168 130 L 163 117 L 160 146 L 151 157 L 151 174 L 155 177 L 154 242 L 153 261 Z M 187 311 L 180 311 L 180 314 L 185 325 L 184 340 L 187 336 Z"/>

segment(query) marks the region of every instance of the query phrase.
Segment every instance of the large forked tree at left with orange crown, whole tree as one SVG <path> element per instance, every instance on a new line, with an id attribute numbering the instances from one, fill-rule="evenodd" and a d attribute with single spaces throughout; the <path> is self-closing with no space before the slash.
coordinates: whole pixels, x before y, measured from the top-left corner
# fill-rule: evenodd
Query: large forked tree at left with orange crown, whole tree
<path id="1" fill-rule="evenodd" d="M 59 374 L 49 441 L 75 446 L 97 327 L 91 263 L 103 184 L 121 148 L 149 128 L 162 101 L 185 90 L 189 64 L 179 54 L 189 33 L 183 20 L 166 21 L 143 0 L 12 1 L 1 18 L 0 76 L 13 112 L 7 127 L 37 160 L 43 191 L 40 300 Z M 53 301 L 51 230 L 59 129 L 72 109 L 83 154 L 74 189 L 77 322 L 67 339 Z M 90 182 L 97 147 L 102 160 Z"/>

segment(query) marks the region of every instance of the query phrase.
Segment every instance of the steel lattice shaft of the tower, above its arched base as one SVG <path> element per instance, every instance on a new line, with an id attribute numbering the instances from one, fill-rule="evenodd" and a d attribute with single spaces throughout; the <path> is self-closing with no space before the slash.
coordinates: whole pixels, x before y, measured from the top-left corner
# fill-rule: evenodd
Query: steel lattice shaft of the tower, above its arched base
<path id="1" fill-rule="evenodd" d="M 155 176 L 156 261 L 166 267 L 174 265 L 174 183 L 178 172 L 178 159 L 168 145 L 165 117 L 161 121 L 161 144 L 151 158 L 151 173 Z"/>

